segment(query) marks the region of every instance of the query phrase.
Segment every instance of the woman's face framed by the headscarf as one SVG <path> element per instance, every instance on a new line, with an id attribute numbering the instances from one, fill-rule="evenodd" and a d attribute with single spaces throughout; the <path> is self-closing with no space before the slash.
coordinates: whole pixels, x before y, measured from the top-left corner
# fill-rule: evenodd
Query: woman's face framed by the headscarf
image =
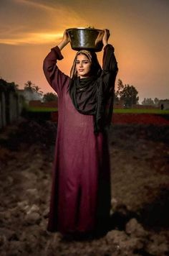
<path id="1" fill-rule="evenodd" d="M 77 55 L 76 60 L 77 76 L 87 78 L 90 76 L 91 62 L 84 54 Z"/>

